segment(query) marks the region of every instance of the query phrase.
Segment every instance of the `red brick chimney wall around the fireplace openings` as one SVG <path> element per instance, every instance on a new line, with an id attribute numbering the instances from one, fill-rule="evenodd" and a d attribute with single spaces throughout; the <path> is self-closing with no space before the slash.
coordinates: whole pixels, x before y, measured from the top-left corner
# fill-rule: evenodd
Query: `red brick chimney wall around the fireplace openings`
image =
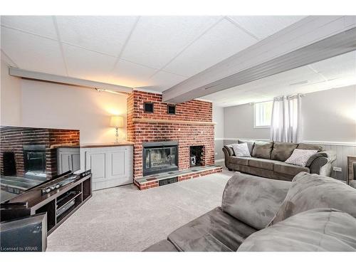
<path id="1" fill-rule="evenodd" d="M 145 113 L 143 103 L 154 103 L 154 112 Z M 179 169 L 188 169 L 189 146 L 204 146 L 204 164 L 214 164 L 214 125 L 184 122 L 134 122 L 135 118 L 212 122 L 212 104 L 191 100 L 176 105 L 176 114 L 167 114 L 162 95 L 134 90 L 127 98 L 127 140 L 134 145 L 134 177 L 142 177 L 142 142 L 179 142 Z"/>

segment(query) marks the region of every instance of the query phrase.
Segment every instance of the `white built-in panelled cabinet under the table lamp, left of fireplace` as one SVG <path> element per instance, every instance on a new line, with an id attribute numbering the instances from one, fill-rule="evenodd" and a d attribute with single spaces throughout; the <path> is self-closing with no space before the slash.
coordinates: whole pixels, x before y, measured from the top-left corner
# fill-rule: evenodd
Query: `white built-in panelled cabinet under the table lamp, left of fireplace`
<path id="1" fill-rule="evenodd" d="M 91 169 L 93 190 L 131 184 L 133 181 L 133 147 L 82 147 L 82 169 Z"/>

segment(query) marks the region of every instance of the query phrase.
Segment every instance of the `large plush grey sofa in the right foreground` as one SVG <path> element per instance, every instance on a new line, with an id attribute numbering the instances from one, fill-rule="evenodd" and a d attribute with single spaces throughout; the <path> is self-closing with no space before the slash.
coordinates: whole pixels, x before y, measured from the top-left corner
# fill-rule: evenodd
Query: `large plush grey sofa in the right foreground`
<path id="1" fill-rule="evenodd" d="M 356 251 L 355 217 L 356 189 L 333 178 L 236 173 L 221 206 L 145 251 Z"/>

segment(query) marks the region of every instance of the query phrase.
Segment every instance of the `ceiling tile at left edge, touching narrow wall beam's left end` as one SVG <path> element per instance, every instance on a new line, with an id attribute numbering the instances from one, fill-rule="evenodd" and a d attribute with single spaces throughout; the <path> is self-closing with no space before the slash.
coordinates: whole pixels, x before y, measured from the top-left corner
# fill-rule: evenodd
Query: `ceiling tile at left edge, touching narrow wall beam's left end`
<path id="1" fill-rule="evenodd" d="M 66 75 L 58 41 L 1 27 L 1 49 L 19 68 Z"/>

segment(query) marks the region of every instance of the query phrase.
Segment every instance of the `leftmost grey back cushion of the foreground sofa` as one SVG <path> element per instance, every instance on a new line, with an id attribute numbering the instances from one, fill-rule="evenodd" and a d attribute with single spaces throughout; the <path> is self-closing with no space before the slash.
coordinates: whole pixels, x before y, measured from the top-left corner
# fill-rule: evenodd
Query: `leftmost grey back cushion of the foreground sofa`
<path id="1" fill-rule="evenodd" d="M 226 184 L 221 209 L 254 229 L 263 229 L 278 211 L 290 184 L 237 173 Z"/>

